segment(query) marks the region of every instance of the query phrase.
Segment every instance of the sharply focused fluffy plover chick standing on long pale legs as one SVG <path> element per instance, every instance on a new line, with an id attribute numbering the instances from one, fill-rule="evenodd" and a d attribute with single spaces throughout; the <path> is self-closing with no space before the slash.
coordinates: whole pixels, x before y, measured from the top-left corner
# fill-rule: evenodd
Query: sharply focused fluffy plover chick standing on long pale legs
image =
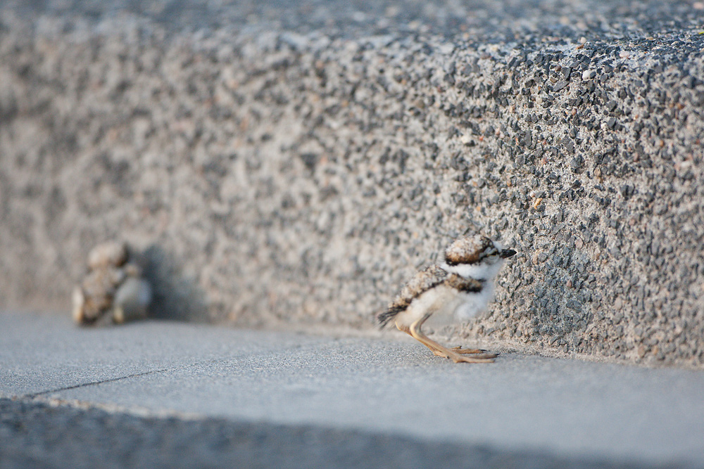
<path id="1" fill-rule="evenodd" d="M 386 311 L 377 316 L 382 327 L 394 321 L 401 330 L 455 363 L 486 363 L 498 354 L 481 349 L 448 348 L 422 333 L 431 316 L 441 323 L 466 321 L 486 309 L 494 296 L 494 278 L 503 260 L 515 255 L 486 236 L 455 240 L 445 250 L 444 262 L 418 272 Z"/>

